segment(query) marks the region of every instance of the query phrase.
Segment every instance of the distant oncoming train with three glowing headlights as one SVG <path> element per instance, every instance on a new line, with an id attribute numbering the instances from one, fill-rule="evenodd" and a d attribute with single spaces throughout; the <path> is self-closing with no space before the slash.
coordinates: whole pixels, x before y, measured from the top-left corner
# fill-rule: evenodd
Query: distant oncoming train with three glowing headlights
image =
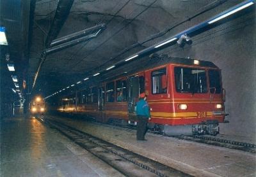
<path id="1" fill-rule="evenodd" d="M 40 96 L 36 96 L 35 99 L 29 103 L 29 111 L 33 115 L 43 115 L 45 113 L 44 99 L 42 99 Z"/>

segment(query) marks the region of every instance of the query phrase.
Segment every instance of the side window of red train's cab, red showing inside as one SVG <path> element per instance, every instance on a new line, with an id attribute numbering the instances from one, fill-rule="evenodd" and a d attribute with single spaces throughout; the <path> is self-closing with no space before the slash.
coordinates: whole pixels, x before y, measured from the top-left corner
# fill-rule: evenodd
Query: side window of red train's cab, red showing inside
<path id="1" fill-rule="evenodd" d="M 151 73 L 152 94 L 164 94 L 167 92 L 166 68 L 157 69 Z"/>

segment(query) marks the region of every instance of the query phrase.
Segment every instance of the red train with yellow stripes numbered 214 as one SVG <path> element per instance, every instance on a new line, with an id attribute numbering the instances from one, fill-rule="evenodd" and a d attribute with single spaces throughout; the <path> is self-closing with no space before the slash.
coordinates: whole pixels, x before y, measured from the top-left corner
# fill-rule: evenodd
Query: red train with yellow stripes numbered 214
<path id="1" fill-rule="evenodd" d="M 171 58 L 62 97 L 58 111 L 86 114 L 100 122 L 136 125 L 136 101 L 148 96 L 148 126 L 168 135 L 218 134 L 224 122 L 221 71 L 212 62 Z"/>

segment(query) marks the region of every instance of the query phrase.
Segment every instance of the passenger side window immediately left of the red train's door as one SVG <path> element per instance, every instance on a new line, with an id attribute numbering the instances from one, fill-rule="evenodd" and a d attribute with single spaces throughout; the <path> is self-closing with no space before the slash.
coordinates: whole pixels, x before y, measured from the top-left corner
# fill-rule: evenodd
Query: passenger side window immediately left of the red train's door
<path id="1" fill-rule="evenodd" d="M 126 80 L 116 81 L 116 101 L 117 102 L 127 101 L 127 83 L 126 83 Z"/>

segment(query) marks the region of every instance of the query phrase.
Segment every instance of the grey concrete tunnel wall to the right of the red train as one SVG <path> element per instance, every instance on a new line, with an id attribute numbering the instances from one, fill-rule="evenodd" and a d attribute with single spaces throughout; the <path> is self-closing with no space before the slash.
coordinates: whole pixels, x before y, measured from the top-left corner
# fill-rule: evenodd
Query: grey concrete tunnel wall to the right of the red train
<path id="1" fill-rule="evenodd" d="M 212 14 L 214 14 L 212 12 Z M 215 13 L 216 14 L 216 13 Z M 201 17 L 203 20 L 204 17 Z M 200 21 L 200 18 L 196 19 Z M 196 23 L 195 23 L 196 24 Z M 221 124 L 221 133 L 256 140 L 256 49 L 255 11 L 204 32 L 183 50 L 164 50 L 173 57 L 210 60 L 222 70 L 226 90 L 225 110 L 229 124 Z"/>

